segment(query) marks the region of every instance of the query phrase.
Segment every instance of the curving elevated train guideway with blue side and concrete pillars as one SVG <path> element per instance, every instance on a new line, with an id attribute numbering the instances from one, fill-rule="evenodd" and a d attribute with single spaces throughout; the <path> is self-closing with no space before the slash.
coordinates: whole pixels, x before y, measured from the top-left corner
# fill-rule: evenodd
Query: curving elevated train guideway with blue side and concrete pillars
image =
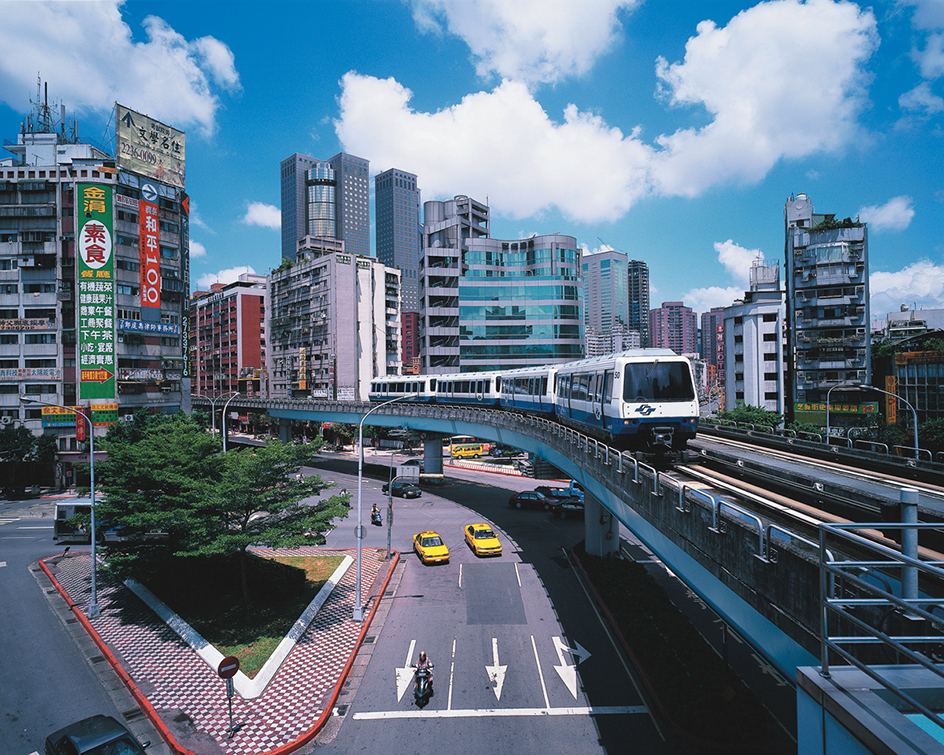
<path id="1" fill-rule="evenodd" d="M 201 404 L 210 402 L 194 399 Z M 287 441 L 292 420 L 356 424 L 377 405 L 237 398 L 231 406 L 280 418 Z M 827 466 L 805 455 L 813 444 L 773 439 L 781 446 L 774 454 L 758 448 L 761 439 L 742 433 L 734 444 L 737 435 L 725 433 L 732 437 L 724 445 L 700 435 L 685 463 L 660 471 L 556 422 L 506 411 L 403 402 L 374 411 L 367 422 L 426 433 L 427 459 L 435 453 L 440 463 L 439 438 L 447 435 L 473 435 L 545 459 L 588 494 L 589 552 L 615 553 L 622 523 L 793 683 L 797 667 L 816 665 L 821 648 L 820 604 L 828 596 L 820 590 L 826 557 L 820 522 L 884 524 L 866 529 L 897 547 L 885 530 L 893 529 L 887 525 L 904 487 L 918 488 L 924 521 L 944 520 L 944 465 L 931 461 L 880 463 L 871 458 L 877 454 L 859 454 L 870 465 L 863 473 L 837 466 L 852 466 L 852 449 L 819 449 Z M 839 508 L 824 511 L 826 503 Z"/>

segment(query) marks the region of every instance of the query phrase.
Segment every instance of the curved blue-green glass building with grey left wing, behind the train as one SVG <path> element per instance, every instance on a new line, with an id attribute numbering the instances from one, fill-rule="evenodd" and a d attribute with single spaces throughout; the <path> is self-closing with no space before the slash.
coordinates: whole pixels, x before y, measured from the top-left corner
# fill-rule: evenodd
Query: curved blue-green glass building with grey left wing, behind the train
<path id="1" fill-rule="evenodd" d="M 455 200 L 424 205 L 420 290 L 426 304 L 421 311 L 424 348 L 429 346 L 423 352 L 424 369 L 507 370 L 582 358 L 583 283 L 577 240 L 553 234 L 506 241 L 457 233 L 460 247 L 443 247 L 445 239 L 436 233 L 444 229 L 437 225 L 450 213 L 460 218 L 470 211 L 472 200 L 457 200 L 459 205 Z"/>

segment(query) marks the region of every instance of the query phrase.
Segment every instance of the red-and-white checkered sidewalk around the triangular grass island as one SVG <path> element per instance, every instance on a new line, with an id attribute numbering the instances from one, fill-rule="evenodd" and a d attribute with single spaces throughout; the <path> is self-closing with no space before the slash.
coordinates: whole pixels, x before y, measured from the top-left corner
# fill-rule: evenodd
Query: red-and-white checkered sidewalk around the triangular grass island
<path id="1" fill-rule="evenodd" d="M 254 552 L 263 556 L 356 555 L 353 549 L 320 548 Z M 292 752 L 310 741 L 328 720 L 373 619 L 377 598 L 396 565 L 396 558 L 387 562 L 381 556 L 380 550 L 362 551 L 365 620 L 358 623 L 351 618 L 356 575 L 352 566 L 262 693 L 248 700 L 239 694 L 233 697 L 233 722 L 239 728 L 232 738 L 228 737 L 226 686 L 216 668 L 128 587 L 99 571 L 101 616 L 88 619 L 90 554 L 52 556 L 41 565 L 171 752 L 259 755 Z"/>

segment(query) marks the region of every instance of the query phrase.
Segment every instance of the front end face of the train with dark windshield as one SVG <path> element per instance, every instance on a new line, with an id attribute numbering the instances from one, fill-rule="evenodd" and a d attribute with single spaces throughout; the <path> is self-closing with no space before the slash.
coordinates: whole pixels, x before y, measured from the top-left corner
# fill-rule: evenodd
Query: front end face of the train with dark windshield
<path id="1" fill-rule="evenodd" d="M 634 449 L 683 451 L 698 432 L 691 362 L 670 349 L 641 349 L 621 356 L 617 364 L 613 394 L 619 438 Z"/>

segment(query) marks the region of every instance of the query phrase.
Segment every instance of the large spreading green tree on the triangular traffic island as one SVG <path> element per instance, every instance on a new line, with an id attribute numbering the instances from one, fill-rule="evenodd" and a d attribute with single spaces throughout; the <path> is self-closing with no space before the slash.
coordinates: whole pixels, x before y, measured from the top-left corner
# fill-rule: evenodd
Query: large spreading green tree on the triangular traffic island
<path id="1" fill-rule="evenodd" d="M 122 576 L 143 579 L 168 558 L 238 555 L 248 605 L 250 545 L 323 544 L 332 520 L 347 516 L 340 496 L 306 500 L 330 487 L 298 474 L 310 446 L 270 441 L 223 455 L 219 439 L 183 413 L 116 425 L 103 446 L 108 459 L 95 467 L 103 526 L 166 533 L 107 543 L 109 568 Z"/>

